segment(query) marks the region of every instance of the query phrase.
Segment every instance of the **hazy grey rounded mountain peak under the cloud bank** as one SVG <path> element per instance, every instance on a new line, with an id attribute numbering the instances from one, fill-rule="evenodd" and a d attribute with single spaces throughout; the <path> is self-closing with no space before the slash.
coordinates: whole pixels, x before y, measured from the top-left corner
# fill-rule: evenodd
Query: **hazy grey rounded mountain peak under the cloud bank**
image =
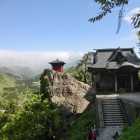
<path id="1" fill-rule="evenodd" d="M 24 67 L 17 71 L 17 73 L 20 74 L 24 79 L 31 79 L 36 75 L 35 72 L 32 71 L 29 67 Z"/>

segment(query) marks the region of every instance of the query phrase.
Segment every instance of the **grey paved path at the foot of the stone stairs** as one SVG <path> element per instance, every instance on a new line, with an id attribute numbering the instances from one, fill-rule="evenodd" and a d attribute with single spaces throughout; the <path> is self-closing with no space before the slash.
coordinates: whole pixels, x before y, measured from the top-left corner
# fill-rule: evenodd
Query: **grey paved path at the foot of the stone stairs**
<path id="1" fill-rule="evenodd" d="M 108 126 L 105 128 L 100 128 L 99 136 L 96 138 L 96 140 L 114 140 L 112 136 L 114 136 L 116 132 L 120 134 L 120 131 L 121 128 L 119 126 Z"/>

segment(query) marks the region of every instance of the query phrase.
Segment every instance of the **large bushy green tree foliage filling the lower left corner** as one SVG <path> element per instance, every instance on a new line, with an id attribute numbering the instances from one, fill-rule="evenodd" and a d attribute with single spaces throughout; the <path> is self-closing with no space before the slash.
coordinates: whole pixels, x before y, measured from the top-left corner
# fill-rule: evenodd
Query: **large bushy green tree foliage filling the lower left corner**
<path id="1" fill-rule="evenodd" d="M 0 114 L 0 140 L 52 140 L 56 135 L 55 125 L 59 124 L 59 110 L 52 103 L 46 91 L 47 77 L 41 74 L 40 94 L 31 94 L 19 109 L 16 101 Z"/>

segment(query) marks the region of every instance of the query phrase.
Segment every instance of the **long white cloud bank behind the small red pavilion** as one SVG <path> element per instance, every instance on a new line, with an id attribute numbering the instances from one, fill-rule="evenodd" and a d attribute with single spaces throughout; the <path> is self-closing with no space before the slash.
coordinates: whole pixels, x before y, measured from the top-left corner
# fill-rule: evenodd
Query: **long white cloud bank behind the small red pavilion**
<path id="1" fill-rule="evenodd" d="M 0 49 L 0 66 L 28 66 L 36 72 L 51 68 L 48 64 L 57 58 L 66 63 L 65 67 L 76 65 L 84 53 L 82 52 L 22 52 Z"/>

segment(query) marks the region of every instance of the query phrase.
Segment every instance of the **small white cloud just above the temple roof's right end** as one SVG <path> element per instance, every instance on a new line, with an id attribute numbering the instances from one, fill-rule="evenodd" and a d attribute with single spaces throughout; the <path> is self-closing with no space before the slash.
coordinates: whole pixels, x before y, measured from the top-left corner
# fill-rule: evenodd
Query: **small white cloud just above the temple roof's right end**
<path id="1" fill-rule="evenodd" d="M 140 31 L 140 28 L 131 30 L 131 35 L 127 36 L 127 37 L 122 37 L 121 41 L 123 41 L 123 40 L 133 40 L 133 39 L 137 39 L 138 40 L 138 36 L 137 36 L 137 32 L 138 31 Z"/>

